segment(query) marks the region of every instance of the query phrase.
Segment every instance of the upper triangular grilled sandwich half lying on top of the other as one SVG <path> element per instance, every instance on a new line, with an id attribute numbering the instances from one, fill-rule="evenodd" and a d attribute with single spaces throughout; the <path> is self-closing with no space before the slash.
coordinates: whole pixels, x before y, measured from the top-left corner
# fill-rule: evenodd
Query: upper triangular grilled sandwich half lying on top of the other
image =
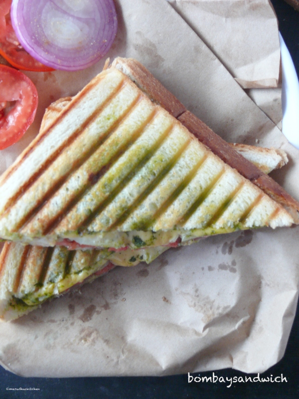
<path id="1" fill-rule="evenodd" d="M 298 223 L 299 203 L 134 60 L 67 102 L 0 178 L 0 237 L 138 249 Z"/>

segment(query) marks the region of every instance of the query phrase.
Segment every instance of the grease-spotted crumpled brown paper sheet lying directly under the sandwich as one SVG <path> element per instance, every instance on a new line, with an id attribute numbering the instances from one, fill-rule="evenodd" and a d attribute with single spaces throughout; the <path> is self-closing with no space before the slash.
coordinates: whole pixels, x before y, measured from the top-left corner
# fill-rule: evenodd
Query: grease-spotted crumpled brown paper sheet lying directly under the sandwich
<path id="1" fill-rule="evenodd" d="M 118 0 L 109 56 L 135 57 L 230 142 L 283 148 L 275 173 L 299 199 L 299 153 L 165 0 Z M 183 39 L 182 39 L 183 38 Z M 73 95 L 87 70 L 28 72 L 36 120 L 0 153 L 1 172 L 37 133 L 44 108 Z M 0 359 L 23 376 L 128 376 L 233 367 L 262 372 L 281 359 L 298 297 L 299 229 L 235 232 L 169 249 L 152 264 L 118 267 L 77 293 L 0 324 Z"/>

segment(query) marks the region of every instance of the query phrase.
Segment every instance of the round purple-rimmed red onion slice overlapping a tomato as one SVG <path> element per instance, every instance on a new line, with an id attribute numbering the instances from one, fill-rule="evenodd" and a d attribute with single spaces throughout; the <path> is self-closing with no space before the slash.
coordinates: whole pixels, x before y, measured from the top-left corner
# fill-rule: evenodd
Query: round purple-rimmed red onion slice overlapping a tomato
<path id="1" fill-rule="evenodd" d="M 113 0 L 12 0 L 10 16 L 32 57 L 66 71 L 99 61 L 117 31 Z"/>

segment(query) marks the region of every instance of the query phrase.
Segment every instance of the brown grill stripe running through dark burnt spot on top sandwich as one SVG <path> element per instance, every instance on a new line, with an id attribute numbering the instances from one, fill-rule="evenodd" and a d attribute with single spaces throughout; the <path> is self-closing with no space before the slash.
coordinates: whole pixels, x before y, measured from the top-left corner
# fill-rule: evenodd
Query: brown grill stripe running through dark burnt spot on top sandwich
<path id="1" fill-rule="evenodd" d="M 143 122 L 143 124 L 135 131 L 133 134 L 131 140 L 129 140 L 124 146 L 122 146 L 118 152 L 115 154 L 113 158 L 113 162 L 110 163 L 109 169 L 117 163 L 117 161 L 120 159 L 120 157 L 136 142 L 136 140 L 142 135 L 146 127 L 154 120 L 155 116 L 158 115 L 158 110 L 153 109 L 152 112 L 150 113 L 149 117 L 146 118 Z M 107 165 L 105 165 L 101 170 L 97 173 L 98 174 L 98 181 L 101 179 L 102 176 L 109 170 L 105 169 Z M 59 214 L 50 221 L 50 223 L 47 225 L 47 227 L 44 229 L 43 234 L 48 234 L 51 231 L 53 231 L 56 226 L 66 217 L 66 215 L 70 212 L 70 210 L 80 201 L 83 199 L 83 197 L 87 194 L 87 192 L 94 186 L 95 184 L 93 183 L 92 179 L 89 179 L 89 184 L 87 184 L 81 191 L 80 193 L 75 196 L 73 200 L 71 200 L 68 205 L 64 208 L 61 209 Z"/>

